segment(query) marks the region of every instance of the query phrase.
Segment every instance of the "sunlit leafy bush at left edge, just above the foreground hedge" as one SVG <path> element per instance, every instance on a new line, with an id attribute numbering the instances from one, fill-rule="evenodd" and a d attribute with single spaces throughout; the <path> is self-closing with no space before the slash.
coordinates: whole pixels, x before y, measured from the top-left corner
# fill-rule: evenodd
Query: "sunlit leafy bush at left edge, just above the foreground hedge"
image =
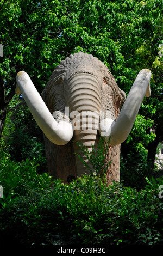
<path id="1" fill-rule="evenodd" d="M 47 173 L 37 174 L 36 164 L 29 159 L 15 162 L 0 154 L 0 185 L 3 187 L 3 202 L 26 195 L 33 188 L 44 190 L 51 183 Z"/>

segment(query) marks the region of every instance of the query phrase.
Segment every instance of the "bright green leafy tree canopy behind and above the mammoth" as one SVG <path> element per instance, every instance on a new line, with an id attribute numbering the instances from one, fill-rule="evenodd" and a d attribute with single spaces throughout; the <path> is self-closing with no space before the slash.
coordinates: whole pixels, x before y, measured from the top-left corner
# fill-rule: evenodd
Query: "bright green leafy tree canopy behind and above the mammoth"
<path id="1" fill-rule="evenodd" d="M 13 95 L 18 71 L 28 72 L 41 92 L 55 66 L 75 52 L 100 59 L 127 94 L 137 73 L 151 69 L 152 96 L 143 102 L 128 142 L 134 139 L 137 150 L 148 148 L 152 166 L 163 127 L 162 54 L 158 55 L 163 43 L 162 4 L 162 0 L 0 1 L 1 112 Z M 4 88 L 10 92 L 7 96 Z M 1 114 L 2 123 L 4 119 Z M 138 129 L 142 124 L 143 134 Z"/>

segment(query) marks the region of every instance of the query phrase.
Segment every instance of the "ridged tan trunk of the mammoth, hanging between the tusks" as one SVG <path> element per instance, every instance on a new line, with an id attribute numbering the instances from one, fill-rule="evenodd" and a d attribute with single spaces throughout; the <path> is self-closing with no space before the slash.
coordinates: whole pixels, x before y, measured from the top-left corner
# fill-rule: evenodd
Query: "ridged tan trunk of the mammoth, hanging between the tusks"
<path id="1" fill-rule="evenodd" d="M 74 127 L 73 147 L 76 153 L 77 173 L 81 176 L 83 173 L 89 173 L 89 170 L 78 155 L 91 169 L 92 166 L 77 143 L 81 142 L 89 151 L 92 150 L 92 145 L 95 149 L 97 147 L 101 93 L 96 76 L 91 74 L 74 75 L 70 78 L 68 85 L 67 106 L 69 106 L 70 119 Z"/>

